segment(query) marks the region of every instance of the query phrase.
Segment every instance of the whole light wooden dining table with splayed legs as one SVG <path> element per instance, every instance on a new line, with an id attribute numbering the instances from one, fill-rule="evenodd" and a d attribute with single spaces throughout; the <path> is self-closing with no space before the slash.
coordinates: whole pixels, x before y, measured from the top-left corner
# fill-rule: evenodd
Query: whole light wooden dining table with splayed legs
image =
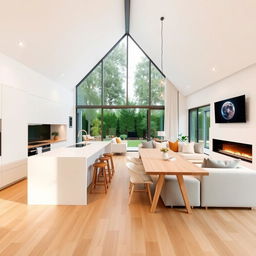
<path id="1" fill-rule="evenodd" d="M 152 213 L 156 211 L 159 196 L 164 185 L 165 175 L 175 175 L 179 183 L 186 210 L 188 213 L 191 213 L 191 207 L 183 176 L 202 176 L 209 175 L 209 173 L 171 150 L 168 151 L 170 156 L 168 160 L 163 159 L 160 149 L 141 148 L 139 152 L 146 174 L 158 175 L 150 211 Z"/>

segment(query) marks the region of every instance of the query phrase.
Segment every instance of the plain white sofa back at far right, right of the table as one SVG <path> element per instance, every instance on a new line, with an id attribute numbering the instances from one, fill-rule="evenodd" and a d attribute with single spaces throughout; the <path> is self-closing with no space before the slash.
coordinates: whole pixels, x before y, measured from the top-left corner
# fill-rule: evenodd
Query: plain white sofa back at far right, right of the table
<path id="1" fill-rule="evenodd" d="M 201 206 L 256 207 L 256 171 L 239 168 L 204 168 Z"/>

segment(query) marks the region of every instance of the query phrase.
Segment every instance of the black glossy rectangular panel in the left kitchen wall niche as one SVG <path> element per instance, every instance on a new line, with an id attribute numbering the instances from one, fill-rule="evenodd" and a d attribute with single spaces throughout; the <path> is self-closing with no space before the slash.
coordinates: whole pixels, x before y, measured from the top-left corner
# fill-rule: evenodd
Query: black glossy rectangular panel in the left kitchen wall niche
<path id="1" fill-rule="evenodd" d="M 43 125 L 29 125 L 28 126 L 28 142 L 51 139 L 51 126 Z"/>

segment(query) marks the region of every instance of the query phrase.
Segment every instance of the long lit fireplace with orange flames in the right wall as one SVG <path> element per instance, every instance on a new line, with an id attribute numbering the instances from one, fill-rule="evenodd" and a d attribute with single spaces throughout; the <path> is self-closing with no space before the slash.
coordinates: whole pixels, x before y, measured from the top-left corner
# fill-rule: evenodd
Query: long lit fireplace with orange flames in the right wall
<path id="1" fill-rule="evenodd" d="M 213 139 L 212 148 L 214 152 L 252 163 L 251 144 Z"/>

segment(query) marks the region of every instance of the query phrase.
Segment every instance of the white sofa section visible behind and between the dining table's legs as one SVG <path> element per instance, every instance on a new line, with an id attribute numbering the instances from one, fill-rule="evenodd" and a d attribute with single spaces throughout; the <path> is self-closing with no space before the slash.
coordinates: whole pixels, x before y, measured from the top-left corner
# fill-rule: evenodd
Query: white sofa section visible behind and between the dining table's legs
<path id="1" fill-rule="evenodd" d="M 193 176 L 184 176 L 184 182 L 190 205 L 200 206 L 200 181 Z M 185 206 L 176 176 L 165 176 L 161 198 L 165 206 Z"/>

